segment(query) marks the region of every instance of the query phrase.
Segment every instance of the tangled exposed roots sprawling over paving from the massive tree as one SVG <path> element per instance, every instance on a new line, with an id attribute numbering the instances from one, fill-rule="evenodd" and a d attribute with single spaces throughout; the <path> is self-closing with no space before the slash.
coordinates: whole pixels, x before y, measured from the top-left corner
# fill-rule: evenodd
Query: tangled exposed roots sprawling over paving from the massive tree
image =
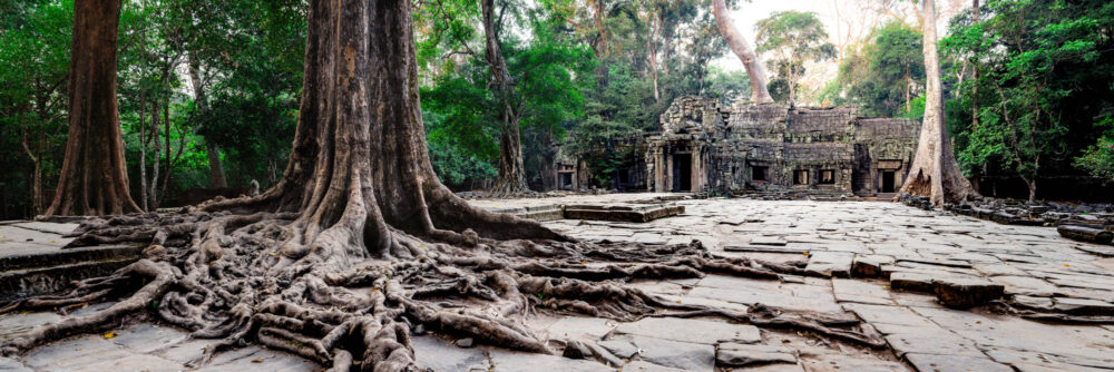
<path id="1" fill-rule="evenodd" d="M 111 276 L 79 282 L 65 294 L 2 310 L 125 300 L 95 315 L 36 330 L 7 343 L 4 351 L 28 351 L 74 334 L 105 332 L 127 319 L 153 316 L 192 331 L 194 337 L 221 340 L 194 365 L 221 350 L 256 342 L 336 371 L 418 370 L 409 346 L 411 326 L 418 324 L 491 345 L 557 354 L 566 341 L 541 340 L 522 324 L 539 311 L 620 321 L 715 316 L 885 345 L 854 317 L 762 305 L 739 313 L 671 303 L 626 285 L 632 280 L 706 273 L 778 280 L 799 270 L 715 257 L 700 242 L 662 246 L 479 238 L 468 246 L 391 231 L 392 246 L 379 255 L 322 247 L 292 258 L 284 249 L 305 229 L 296 221 L 293 214 L 199 208 L 88 221 L 75 245 L 138 241 L 149 244 L 146 257 Z"/>

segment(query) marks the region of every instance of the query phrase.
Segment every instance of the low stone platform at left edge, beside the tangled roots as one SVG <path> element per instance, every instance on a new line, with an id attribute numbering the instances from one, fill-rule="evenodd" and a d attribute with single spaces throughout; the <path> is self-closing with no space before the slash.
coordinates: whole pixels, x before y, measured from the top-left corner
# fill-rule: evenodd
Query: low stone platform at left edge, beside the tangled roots
<path id="1" fill-rule="evenodd" d="M 140 247 L 62 248 L 77 224 L 0 223 L 0 302 L 62 290 L 72 281 L 107 275 L 138 260 Z"/>

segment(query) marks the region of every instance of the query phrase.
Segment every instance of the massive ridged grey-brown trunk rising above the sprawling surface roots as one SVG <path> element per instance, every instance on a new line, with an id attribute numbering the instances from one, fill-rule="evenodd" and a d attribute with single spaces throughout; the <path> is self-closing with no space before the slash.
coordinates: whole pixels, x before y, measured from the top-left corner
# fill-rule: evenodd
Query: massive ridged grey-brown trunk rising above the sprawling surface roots
<path id="1" fill-rule="evenodd" d="M 299 125 L 282 180 L 246 204 L 207 208 L 299 213 L 299 236 L 283 249 L 291 258 L 312 246 L 390 256 L 404 248 L 392 244 L 392 229 L 446 239 L 468 228 L 560 238 L 535 222 L 471 207 L 438 180 L 421 121 L 410 1 L 336 2 L 311 1 Z"/>

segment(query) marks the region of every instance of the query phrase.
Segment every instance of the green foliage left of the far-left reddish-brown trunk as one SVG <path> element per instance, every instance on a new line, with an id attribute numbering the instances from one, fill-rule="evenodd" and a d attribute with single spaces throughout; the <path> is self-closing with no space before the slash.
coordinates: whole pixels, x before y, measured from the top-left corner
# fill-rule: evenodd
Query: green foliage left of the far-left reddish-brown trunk
<path id="1" fill-rule="evenodd" d="M 66 145 L 66 85 L 74 2 L 0 4 L 0 218 L 36 213 L 33 169 L 53 187 Z"/>

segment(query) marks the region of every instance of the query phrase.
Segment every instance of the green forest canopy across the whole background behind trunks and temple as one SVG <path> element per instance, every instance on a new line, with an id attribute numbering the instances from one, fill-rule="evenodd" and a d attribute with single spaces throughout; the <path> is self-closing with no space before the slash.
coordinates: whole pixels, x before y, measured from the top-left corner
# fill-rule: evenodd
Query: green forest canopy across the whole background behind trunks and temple
<path id="1" fill-rule="evenodd" d="M 711 96 L 730 106 L 751 96 L 746 74 L 717 62 L 730 52 L 711 0 L 494 4 L 511 82 L 506 95 L 491 87 L 481 2 L 414 3 L 428 149 L 456 190 L 495 182 L 504 104 L 517 117 L 531 188 L 554 186 L 555 145 L 582 160 L 590 173 L 585 185 L 610 188 L 615 170 L 638 160 L 620 144 L 656 131 L 675 98 Z M 123 2 L 119 118 L 140 207 L 175 205 L 192 188 L 238 190 L 253 180 L 266 188 L 281 179 L 300 111 L 307 9 L 304 0 Z M 754 47 L 779 100 L 919 119 L 921 35 L 908 23 L 919 18 L 881 13 L 886 21 L 861 39 L 840 39 L 841 56 L 815 13 L 780 11 L 736 27 L 758 30 Z M 981 4 L 978 22 L 970 9 L 949 22 L 940 41 L 944 99 L 968 176 L 1114 179 L 1112 13 L 1101 0 L 994 0 Z M 42 213 L 57 185 L 72 26 L 71 0 L 0 3 L 6 217 Z M 819 92 L 802 89 L 805 74 L 815 87 L 812 75 L 824 69 L 813 66 L 823 63 L 838 66 L 830 82 Z"/>

